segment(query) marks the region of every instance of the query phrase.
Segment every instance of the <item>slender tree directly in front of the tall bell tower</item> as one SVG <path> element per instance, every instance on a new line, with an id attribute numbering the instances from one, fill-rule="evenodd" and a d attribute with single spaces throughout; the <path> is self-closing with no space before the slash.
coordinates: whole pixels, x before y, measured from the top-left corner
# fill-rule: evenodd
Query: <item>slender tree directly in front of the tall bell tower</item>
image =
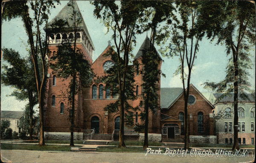
<path id="1" fill-rule="evenodd" d="M 58 53 L 53 58 L 53 62 L 50 63 L 50 67 L 53 69 L 53 73 L 58 77 L 69 80 L 69 87 L 65 93 L 68 94 L 70 110 L 70 131 L 74 129 L 74 118 L 75 118 L 75 95 L 79 92 L 82 87 L 89 87 L 93 81 L 94 73 L 91 69 L 90 63 L 84 59 L 81 50 L 76 48 L 74 52 L 73 47 L 70 43 L 65 43 L 58 46 Z M 70 108 L 70 107 L 67 107 Z M 70 140 L 70 145 L 74 146 Z"/>

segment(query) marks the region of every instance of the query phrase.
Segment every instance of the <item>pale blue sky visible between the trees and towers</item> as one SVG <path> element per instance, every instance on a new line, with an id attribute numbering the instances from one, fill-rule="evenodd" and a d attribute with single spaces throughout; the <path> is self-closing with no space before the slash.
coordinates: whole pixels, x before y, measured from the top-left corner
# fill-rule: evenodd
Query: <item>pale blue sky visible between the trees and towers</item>
<path id="1" fill-rule="evenodd" d="M 68 1 L 61 1 L 61 5 L 57 5 L 52 9 L 49 15 L 49 20 L 52 20 L 59 11 L 68 3 Z M 93 53 L 93 60 L 95 60 L 102 51 L 107 47 L 108 40 L 111 40 L 111 33 L 106 34 L 107 28 L 93 16 L 93 6 L 89 1 L 77 1 L 84 22 L 92 38 L 96 50 Z M 133 50 L 136 55 L 140 45 L 144 41 L 146 33 L 137 35 L 137 45 Z M 21 19 L 17 18 L 9 22 L 2 23 L 2 47 L 13 48 L 19 51 L 23 56 L 29 55 L 26 48 L 27 35 L 23 27 Z M 113 42 L 111 40 L 111 42 Z M 193 72 L 191 76 L 191 83 L 195 85 L 201 92 L 206 92 L 201 84 L 207 80 L 218 82 L 225 77 L 225 67 L 229 56 L 226 55 L 224 45 L 215 45 L 215 42 L 209 42 L 208 39 L 203 39 L 199 42 L 200 47 L 195 59 Z M 158 49 L 159 47 L 156 46 Z M 251 51 L 254 68 L 251 70 L 250 82 L 255 87 L 255 48 Z M 181 79 L 179 76 L 174 76 L 177 66 L 179 65 L 178 58 L 162 57 L 164 60 L 162 64 L 162 71 L 166 74 L 166 78 L 161 78 L 161 87 L 181 87 Z M 1 85 L 1 110 L 21 110 L 27 101 L 17 101 L 15 97 L 8 96 L 14 88 Z"/>

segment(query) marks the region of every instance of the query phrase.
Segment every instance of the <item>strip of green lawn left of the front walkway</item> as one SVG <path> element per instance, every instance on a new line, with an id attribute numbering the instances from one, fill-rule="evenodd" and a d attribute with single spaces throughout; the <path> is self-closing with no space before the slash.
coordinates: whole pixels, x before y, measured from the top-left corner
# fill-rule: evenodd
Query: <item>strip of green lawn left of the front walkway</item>
<path id="1" fill-rule="evenodd" d="M 40 151 L 70 151 L 70 146 L 63 145 L 44 145 L 39 146 L 38 144 L 12 144 L 12 143 L 1 143 L 1 149 L 9 150 L 40 150 Z"/>

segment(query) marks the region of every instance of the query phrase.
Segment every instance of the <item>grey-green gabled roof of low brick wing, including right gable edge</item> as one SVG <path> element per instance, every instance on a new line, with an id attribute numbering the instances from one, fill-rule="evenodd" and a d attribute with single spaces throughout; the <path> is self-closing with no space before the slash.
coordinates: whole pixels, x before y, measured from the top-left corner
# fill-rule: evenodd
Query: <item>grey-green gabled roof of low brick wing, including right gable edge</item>
<path id="1" fill-rule="evenodd" d="M 207 100 L 207 98 L 205 98 L 204 95 L 193 84 L 190 84 L 189 87 L 193 87 L 198 92 L 198 94 L 202 96 L 204 100 L 207 101 L 207 103 L 212 108 L 214 108 L 212 103 L 210 103 Z M 170 107 L 172 107 L 172 105 L 180 98 L 180 96 L 182 96 L 182 94 L 183 94 L 183 88 L 163 88 L 163 90 L 161 88 L 161 109 L 169 109 Z M 162 100 L 163 100 L 163 103 L 162 103 Z"/>

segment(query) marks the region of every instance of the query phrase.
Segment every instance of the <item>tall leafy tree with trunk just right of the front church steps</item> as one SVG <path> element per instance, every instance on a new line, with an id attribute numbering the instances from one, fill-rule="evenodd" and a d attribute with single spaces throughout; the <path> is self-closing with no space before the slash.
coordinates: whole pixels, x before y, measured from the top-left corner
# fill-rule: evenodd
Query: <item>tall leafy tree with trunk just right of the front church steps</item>
<path id="1" fill-rule="evenodd" d="M 125 147 L 124 143 L 124 117 L 125 117 L 125 93 L 128 70 L 129 57 L 132 56 L 131 49 L 136 43 L 135 34 L 140 34 L 139 18 L 143 17 L 143 5 L 135 1 L 93 1 L 95 6 L 93 14 L 97 19 L 113 31 L 113 40 L 115 42 L 117 54 L 117 76 L 119 88 L 119 108 L 120 108 L 120 132 L 119 147 Z"/>

